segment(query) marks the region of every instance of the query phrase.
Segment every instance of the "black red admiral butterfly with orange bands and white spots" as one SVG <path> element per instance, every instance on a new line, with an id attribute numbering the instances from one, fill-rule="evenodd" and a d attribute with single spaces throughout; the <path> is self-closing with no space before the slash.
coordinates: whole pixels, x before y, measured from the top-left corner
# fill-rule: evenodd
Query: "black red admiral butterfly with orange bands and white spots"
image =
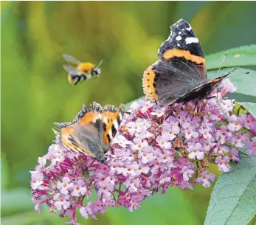
<path id="1" fill-rule="evenodd" d="M 159 47 L 159 60 L 145 70 L 142 86 L 148 100 L 160 105 L 203 100 L 229 75 L 207 78 L 204 53 L 190 24 L 180 19 Z"/>

